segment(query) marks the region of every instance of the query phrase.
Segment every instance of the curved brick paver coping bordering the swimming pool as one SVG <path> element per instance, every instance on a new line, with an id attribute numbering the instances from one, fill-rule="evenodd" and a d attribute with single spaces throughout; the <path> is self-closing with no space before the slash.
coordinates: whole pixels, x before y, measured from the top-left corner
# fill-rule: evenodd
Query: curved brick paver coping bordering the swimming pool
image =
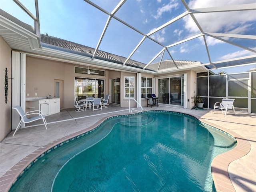
<path id="1" fill-rule="evenodd" d="M 146 111 L 152 111 L 152 109 L 145 110 L 143 112 L 146 112 Z M 232 181 L 230 180 L 229 174 L 228 174 L 228 166 L 231 162 L 245 156 L 250 151 L 251 145 L 244 137 L 233 132 L 232 130 L 228 130 L 228 129 L 226 129 L 222 126 L 216 125 L 212 122 L 208 122 L 207 120 L 204 120 L 200 116 L 197 116 L 194 114 L 190 114 L 190 113 L 186 113 L 186 112 L 176 112 L 176 111 L 172 111 L 172 110 L 154 110 L 154 111 L 168 111 L 168 112 L 174 112 L 174 113 L 178 113 L 178 114 L 186 114 L 186 115 L 196 118 L 197 120 L 199 120 L 202 123 L 205 123 L 209 126 L 215 127 L 219 130 L 222 130 L 222 131 L 230 134 L 232 137 L 234 137 L 236 139 L 237 146 L 228 152 L 225 152 L 225 153 L 222 153 L 222 154 L 216 156 L 212 160 L 211 172 L 212 172 L 212 178 L 213 178 L 214 187 L 215 187 L 216 192 L 236 192 L 236 190 L 234 189 L 234 186 L 232 184 Z M 19 176 L 22 176 L 22 174 L 23 174 L 22 172 L 24 172 L 26 169 L 30 168 L 29 167 L 30 164 L 32 164 L 34 161 L 37 161 L 37 159 L 42 154 L 50 152 L 51 149 L 53 149 L 55 146 L 62 144 L 63 142 L 66 142 L 68 140 L 71 140 L 72 138 L 76 138 L 82 134 L 86 134 L 92 130 L 95 130 L 100 124 L 102 124 L 108 118 L 111 118 L 114 116 L 137 114 L 137 113 L 141 113 L 141 112 L 125 113 L 125 114 L 118 114 L 118 115 L 113 114 L 110 116 L 106 116 L 106 117 L 100 119 L 94 125 L 86 128 L 84 130 L 80 130 L 73 134 L 69 134 L 68 136 L 64 136 L 62 138 L 54 140 L 54 141 L 38 148 L 37 150 L 35 150 L 34 152 L 29 154 L 22 160 L 20 160 L 20 162 L 16 163 L 12 168 L 10 168 L 10 170 L 8 170 L 0 178 L 0 188 L 1 188 L 0 192 L 8 192 L 10 190 L 10 188 L 12 187 L 12 185 L 16 182 L 17 178 Z"/>

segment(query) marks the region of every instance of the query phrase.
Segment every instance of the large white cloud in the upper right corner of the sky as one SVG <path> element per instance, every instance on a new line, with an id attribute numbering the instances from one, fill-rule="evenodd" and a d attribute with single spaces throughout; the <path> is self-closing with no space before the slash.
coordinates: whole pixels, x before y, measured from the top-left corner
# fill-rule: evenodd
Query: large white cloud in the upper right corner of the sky
<path id="1" fill-rule="evenodd" d="M 191 0 L 188 6 L 190 8 L 207 8 L 250 3 L 255 3 L 255 0 Z M 206 13 L 194 16 L 204 32 L 244 34 L 249 26 L 246 22 L 255 21 L 255 14 L 250 11 Z M 183 20 L 187 30 L 194 34 L 200 32 L 190 16 L 186 16 Z"/>

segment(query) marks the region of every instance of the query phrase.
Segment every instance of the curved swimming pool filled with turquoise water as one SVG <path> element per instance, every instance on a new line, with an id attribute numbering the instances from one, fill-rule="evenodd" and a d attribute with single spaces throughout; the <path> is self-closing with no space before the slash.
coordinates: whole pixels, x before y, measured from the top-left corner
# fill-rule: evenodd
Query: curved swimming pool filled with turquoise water
<path id="1" fill-rule="evenodd" d="M 205 126 L 164 111 L 110 118 L 38 158 L 10 191 L 212 191 L 210 163 L 236 143 Z"/>

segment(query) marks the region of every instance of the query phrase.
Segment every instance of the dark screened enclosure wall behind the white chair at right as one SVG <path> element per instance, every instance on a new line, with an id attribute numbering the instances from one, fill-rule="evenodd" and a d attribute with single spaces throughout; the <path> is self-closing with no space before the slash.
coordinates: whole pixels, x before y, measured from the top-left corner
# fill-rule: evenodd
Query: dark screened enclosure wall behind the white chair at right
<path id="1" fill-rule="evenodd" d="M 236 110 L 256 113 L 256 72 L 198 73 L 197 93 L 202 96 L 205 108 L 214 108 L 223 98 L 234 98 Z"/>

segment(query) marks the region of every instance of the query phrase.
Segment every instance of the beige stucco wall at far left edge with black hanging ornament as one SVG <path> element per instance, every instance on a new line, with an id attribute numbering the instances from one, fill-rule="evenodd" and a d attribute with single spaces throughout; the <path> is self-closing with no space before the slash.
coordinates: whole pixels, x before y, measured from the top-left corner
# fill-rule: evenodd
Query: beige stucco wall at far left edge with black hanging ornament
<path id="1" fill-rule="evenodd" d="M 8 100 L 5 103 L 5 69 L 8 75 Z M 11 90 L 12 90 L 12 49 L 0 36 L 0 141 L 2 141 L 11 131 Z"/>

